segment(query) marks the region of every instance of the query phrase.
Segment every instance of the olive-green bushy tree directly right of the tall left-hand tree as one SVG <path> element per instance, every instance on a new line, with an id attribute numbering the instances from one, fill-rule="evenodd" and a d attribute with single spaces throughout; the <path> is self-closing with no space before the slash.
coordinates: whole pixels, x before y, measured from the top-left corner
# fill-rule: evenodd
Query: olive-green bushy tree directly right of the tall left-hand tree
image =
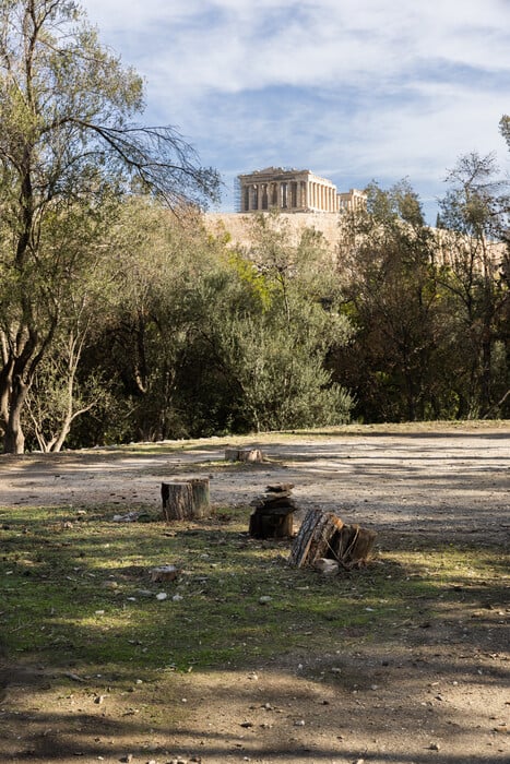
<path id="1" fill-rule="evenodd" d="M 199 405 L 183 402 L 182 390 L 194 384 L 190 366 L 197 332 L 210 310 L 206 299 L 221 309 L 221 285 L 206 299 L 202 285 L 222 271 L 222 247 L 207 237 L 195 211 L 177 220 L 159 204 L 140 198 L 124 204 L 111 243 L 114 288 L 87 367 L 112 383 L 123 410 L 117 417 L 124 420 L 117 437 L 182 437 L 190 432 Z"/>

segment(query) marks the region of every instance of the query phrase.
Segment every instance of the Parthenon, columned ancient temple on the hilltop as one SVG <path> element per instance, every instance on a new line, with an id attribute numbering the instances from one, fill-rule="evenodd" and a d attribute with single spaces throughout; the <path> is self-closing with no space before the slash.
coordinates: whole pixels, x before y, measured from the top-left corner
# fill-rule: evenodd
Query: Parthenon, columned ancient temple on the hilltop
<path id="1" fill-rule="evenodd" d="M 365 204 L 365 194 L 357 189 L 339 193 L 331 180 L 310 170 L 287 170 L 268 167 L 238 176 L 239 212 L 340 212 Z"/>

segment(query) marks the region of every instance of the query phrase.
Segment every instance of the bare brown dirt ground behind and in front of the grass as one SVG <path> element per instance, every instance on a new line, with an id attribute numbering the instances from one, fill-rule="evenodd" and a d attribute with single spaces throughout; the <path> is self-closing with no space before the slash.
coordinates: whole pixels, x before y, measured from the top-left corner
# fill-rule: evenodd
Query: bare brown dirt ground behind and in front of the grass
<path id="1" fill-rule="evenodd" d="M 266 457 L 253 469 L 225 466 L 222 439 L 169 453 L 147 447 L 143 454 L 111 449 L 4 456 L 0 505 L 156 508 L 162 480 L 209 473 L 218 506 L 248 504 L 268 481 L 293 482 L 300 516 L 312 506 L 333 510 L 346 523 L 377 530 L 382 550 L 419 534 L 431 542 L 497 546 L 501 560 L 508 551 L 510 422 L 230 440 L 248 444 Z M 183 675 L 181 721 L 167 735 L 152 730 L 149 720 L 116 733 L 111 717 L 96 716 L 95 742 L 76 748 L 74 737 L 67 743 L 80 718 L 97 713 L 93 693 L 78 684 L 73 730 L 61 728 L 58 739 L 40 731 L 46 757 L 20 753 L 23 732 L 13 714 L 37 703 L 45 681 L 43 673 L 20 672 L 0 701 L 0 725 L 2 716 L 9 718 L 19 732 L 4 761 L 508 763 L 508 581 L 501 568 L 498 580 L 486 582 L 500 597 L 489 608 L 478 587 L 463 593 L 459 618 L 448 612 L 432 623 L 400 624 L 391 652 L 363 640 L 356 646 L 353 638 L 349 655 L 332 645 L 330 654 L 311 660 L 304 648 L 249 671 Z M 483 619 L 485 628 L 473 629 L 471 619 Z"/>

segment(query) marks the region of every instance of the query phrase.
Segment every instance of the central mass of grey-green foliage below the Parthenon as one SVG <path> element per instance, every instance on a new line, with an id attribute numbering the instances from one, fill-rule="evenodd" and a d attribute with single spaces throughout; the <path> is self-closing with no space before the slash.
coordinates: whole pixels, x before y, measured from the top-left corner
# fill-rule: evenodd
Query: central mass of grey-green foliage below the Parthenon
<path id="1" fill-rule="evenodd" d="M 264 223 L 253 252 L 235 251 L 224 237 L 211 238 L 195 214 L 177 222 L 142 200 L 126 205 L 111 234 L 115 288 L 86 367 L 110 381 L 118 423 L 119 404 L 129 402 L 117 437 L 158 440 L 348 418 L 351 397 L 331 382 L 325 357 L 347 342 L 349 327 L 327 277 L 331 258 L 328 271 L 313 235 L 292 244 L 277 230 L 273 240 Z M 106 433 L 114 409 L 102 416 Z"/>

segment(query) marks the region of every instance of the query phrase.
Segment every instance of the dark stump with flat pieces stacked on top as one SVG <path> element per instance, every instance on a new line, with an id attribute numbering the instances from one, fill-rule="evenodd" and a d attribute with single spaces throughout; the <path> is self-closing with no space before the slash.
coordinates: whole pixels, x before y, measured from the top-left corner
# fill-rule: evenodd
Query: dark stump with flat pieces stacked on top
<path id="1" fill-rule="evenodd" d="M 265 493 L 251 502 L 249 534 L 253 538 L 288 538 L 293 535 L 292 482 L 268 486 Z"/>

